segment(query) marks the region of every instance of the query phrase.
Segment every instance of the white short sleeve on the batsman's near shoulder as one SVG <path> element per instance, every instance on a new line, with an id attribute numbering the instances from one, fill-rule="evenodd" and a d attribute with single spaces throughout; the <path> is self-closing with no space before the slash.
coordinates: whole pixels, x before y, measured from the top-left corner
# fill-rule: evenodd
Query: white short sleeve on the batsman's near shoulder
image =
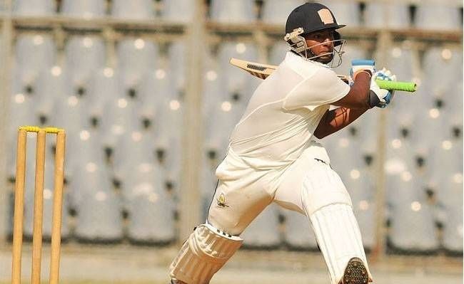
<path id="1" fill-rule="evenodd" d="M 283 101 L 285 110 L 306 107 L 314 110 L 320 105 L 328 105 L 348 94 L 350 86 L 343 83 L 329 68 L 318 68 L 311 77 L 296 85 Z"/>

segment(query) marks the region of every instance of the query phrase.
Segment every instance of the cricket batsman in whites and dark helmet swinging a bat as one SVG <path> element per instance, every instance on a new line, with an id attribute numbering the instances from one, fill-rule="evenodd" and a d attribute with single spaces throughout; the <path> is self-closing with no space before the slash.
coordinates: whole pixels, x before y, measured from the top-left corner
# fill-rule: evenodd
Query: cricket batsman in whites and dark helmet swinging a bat
<path id="1" fill-rule="evenodd" d="M 298 6 L 288 16 L 290 51 L 258 86 L 234 128 L 208 219 L 170 266 L 172 284 L 206 284 L 240 248 L 241 233 L 271 202 L 308 216 L 331 284 L 372 282 L 351 199 L 315 141 L 393 98 L 375 78 L 395 80 L 373 61 L 353 61 L 350 82 L 331 69 L 345 41 L 330 9 Z M 330 105 L 336 106 L 330 107 Z"/>

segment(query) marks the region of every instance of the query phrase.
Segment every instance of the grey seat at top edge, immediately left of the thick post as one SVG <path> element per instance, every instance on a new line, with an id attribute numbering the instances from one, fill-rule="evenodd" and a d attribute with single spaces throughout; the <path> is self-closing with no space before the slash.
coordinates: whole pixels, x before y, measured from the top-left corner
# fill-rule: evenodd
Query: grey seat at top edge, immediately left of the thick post
<path id="1" fill-rule="evenodd" d="M 163 19 L 187 23 L 195 13 L 195 0 L 163 0 L 163 8 Z"/>

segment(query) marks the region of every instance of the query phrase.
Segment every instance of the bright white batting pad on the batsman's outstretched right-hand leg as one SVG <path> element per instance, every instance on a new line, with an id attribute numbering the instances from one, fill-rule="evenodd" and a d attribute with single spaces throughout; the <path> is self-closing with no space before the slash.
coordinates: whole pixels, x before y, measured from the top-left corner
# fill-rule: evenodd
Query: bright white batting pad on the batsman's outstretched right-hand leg
<path id="1" fill-rule="evenodd" d="M 326 261 L 332 284 L 343 277 L 350 258 L 360 258 L 370 275 L 363 243 L 353 214 L 347 204 L 331 204 L 315 211 L 310 217 L 318 245 Z"/>

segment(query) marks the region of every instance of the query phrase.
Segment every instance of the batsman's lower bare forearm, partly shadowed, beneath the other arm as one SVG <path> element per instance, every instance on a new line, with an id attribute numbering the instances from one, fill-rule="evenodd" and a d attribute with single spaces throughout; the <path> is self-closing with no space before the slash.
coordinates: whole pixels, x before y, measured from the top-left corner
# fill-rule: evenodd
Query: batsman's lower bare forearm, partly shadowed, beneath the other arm
<path id="1" fill-rule="evenodd" d="M 326 114 L 322 117 L 321 122 L 319 122 L 314 135 L 319 139 L 331 135 L 332 133 L 343 129 L 343 127 L 350 125 L 351 122 L 358 119 L 358 117 L 363 115 L 363 113 L 368 109 L 368 107 L 338 107 L 335 110 L 327 111 Z"/>

